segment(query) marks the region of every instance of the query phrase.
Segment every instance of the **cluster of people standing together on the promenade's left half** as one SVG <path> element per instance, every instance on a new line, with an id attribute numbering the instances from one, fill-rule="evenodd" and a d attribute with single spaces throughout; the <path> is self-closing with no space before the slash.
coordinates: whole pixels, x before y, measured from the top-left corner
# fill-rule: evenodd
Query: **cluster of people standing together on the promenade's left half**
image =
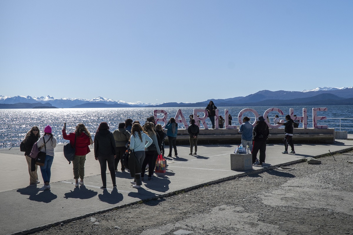
<path id="1" fill-rule="evenodd" d="M 195 123 L 195 120 L 193 120 Z M 191 125 L 192 126 L 192 125 Z M 196 125 L 193 125 L 196 126 Z M 148 168 L 148 180 L 152 180 L 158 155 L 164 156 L 164 140 L 168 136 L 169 157 L 178 157 L 176 138 L 178 134 L 178 124 L 174 118 L 170 118 L 166 127 L 167 134 L 161 124 L 155 125 L 153 116 L 149 117 L 146 123 L 141 126 L 138 121 L 126 119 L 125 123 L 119 123 L 118 129 L 109 131 L 107 122 L 99 124 L 94 141 L 86 126 L 80 123 L 76 126 L 74 132 L 66 133 L 66 123 L 62 129 L 62 137 L 69 140 L 75 149 L 75 156 L 72 161 L 75 186 L 84 185 L 84 165 L 86 155 L 90 153 L 89 146 L 94 143 L 94 157 L 100 163 L 102 189 L 107 188 L 106 171 L 107 166 L 112 178 L 113 187 L 116 187 L 115 172 L 118 171 L 119 162 L 121 163 L 121 172 L 125 172 L 125 166 L 122 162 L 122 156 L 126 151 L 131 156 L 128 160 L 130 174 L 134 178 L 131 181 L 134 188 L 140 188 L 144 180 L 145 169 Z M 198 126 L 197 126 L 198 128 Z M 197 142 L 198 133 L 194 133 Z M 56 138 L 52 134 L 50 125 L 44 128 L 44 134 L 41 136 L 40 129 L 33 126 L 25 136 L 25 158 L 28 163 L 30 175 L 30 184 L 40 184 L 37 174 L 36 159 L 32 158 L 31 151 L 33 145 L 37 143 L 38 150 L 45 152 L 44 166 L 40 166 L 43 186 L 39 190 L 50 189 L 51 166 L 54 160 L 54 148 L 56 147 Z M 195 143 L 195 154 L 197 145 Z M 147 167 L 148 166 L 148 167 Z"/>

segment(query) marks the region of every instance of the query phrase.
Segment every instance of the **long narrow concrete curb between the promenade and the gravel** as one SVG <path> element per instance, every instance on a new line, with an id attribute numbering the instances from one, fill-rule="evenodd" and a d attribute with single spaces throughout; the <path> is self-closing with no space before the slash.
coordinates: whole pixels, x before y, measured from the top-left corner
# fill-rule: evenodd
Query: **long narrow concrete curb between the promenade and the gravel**
<path id="1" fill-rule="evenodd" d="M 346 148 L 346 149 L 341 149 L 341 150 L 338 150 L 338 151 L 333 151 L 333 152 L 331 152 L 331 153 L 332 153 L 332 154 L 339 154 L 339 153 L 345 153 L 345 152 L 352 151 L 352 150 L 353 150 L 353 147 L 349 147 L 349 148 Z M 320 157 L 330 156 L 330 155 L 331 155 L 330 153 L 325 153 L 325 154 L 320 154 L 320 155 L 314 156 L 314 158 L 320 158 Z M 50 228 L 50 227 L 52 227 L 52 226 L 59 225 L 59 224 L 61 224 L 61 223 L 68 223 L 68 222 L 76 221 L 76 220 L 78 220 L 78 219 L 87 218 L 87 217 L 89 217 L 89 216 L 101 214 L 101 213 L 108 212 L 108 211 L 112 211 L 112 210 L 115 210 L 115 209 L 124 208 L 124 207 L 126 207 L 126 206 L 130 206 L 130 205 L 134 205 L 134 204 L 138 204 L 138 203 L 147 202 L 147 201 L 149 201 L 149 200 L 156 200 L 156 199 L 158 199 L 158 198 L 164 198 L 164 197 L 173 196 L 174 194 L 178 194 L 178 193 L 183 193 L 183 192 L 191 191 L 191 190 L 193 190 L 193 189 L 200 188 L 200 187 L 203 187 L 203 186 L 218 184 L 218 183 L 222 183 L 222 182 L 224 182 L 224 181 L 231 180 L 231 179 L 235 179 L 235 178 L 238 178 L 238 177 L 244 177 L 244 176 L 251 175 L 251 174 L 261 173 L 261 172 L 265 172 L 265 171 L 270 170 L 270 169 L 275 169 L 275 168 L 277 168 L 277 167 L 293 165 L 293 164 L 300 163 L 300 162 L 305 162 L 305 161 L 306 161 L 306 159 L 303 158 L 303 159 L 298 159 L 298 160 L 294 160 L 294 161 L 290 161 L 290 162 L 286 162 L 286 163 L 282 163 L 282 164 L 278 164 L 278 165 L 273 165 L 273 166 L 269 166 L 269 167 L 263 167 L 263 168 L 256 169 L 256 170 L 252 169 L 252 170 L 245 171 L 245 172 L 243 172 L 243 173 L 241 173 L 241 174 L 232 175 L 232 176 L 229 176 L 229 177 L 225 177 L 225 178 L 221 178 L 221 179 L 209 181 L 209 182 L 207 182 L 207 183 L 198 184 L 198 185 L 195 185 L 195 186 L 183 188 L 183 189 L 176 190 L 176 191 L 173 191 L 173 192 L 160 194 L 160 195 L 158 195 L 158 196 L 150 197 L 150 198 L 143 199 L 143 200 L 136 200 L 136 201 L 134 201 L 134 202 L 126 203 L 126 204 L 119 205 L 119 206 L 114 206 L 114 207 L 112 207 L 112 208 L 106 208 L 106 209 L 103 209 L 103 210 L 92 211 L 92 212 L 90 212 L 90 213 L 88 213 L 88 214 L 85 214 L 85 215 L 73 217 L 73 218 L 70 218 L 70 219 L 65 219 L 65 220 L 62 220 L 62 221 L 54 222 L 54 223 L 48 223 L 48 224 L 45 224 L 45 225 L 42 225 L 42 226 L 30 228 L 30 229 L 25 229 L 25 230 L 21 230 L 21 231 L 16 231 L 16 232 L 14 232 L 14 233 L 9 233 L 9 234 L 6 234 L 6 235 L 22 235 L 22 234 L 35 233 L 35 232 L 37 232 L 37 231 L 44 230 L 44 229 L 46 229 L 46 228 Z"/>

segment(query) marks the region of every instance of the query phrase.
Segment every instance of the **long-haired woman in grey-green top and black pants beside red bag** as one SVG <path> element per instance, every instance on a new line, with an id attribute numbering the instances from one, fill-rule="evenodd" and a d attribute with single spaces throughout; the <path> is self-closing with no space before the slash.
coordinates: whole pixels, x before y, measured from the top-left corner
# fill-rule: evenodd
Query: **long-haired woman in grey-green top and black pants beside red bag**
<path id="1" fill-rule="evenodd" d="M 152 174 L 154 171 L 154 166 L 157 160 L 157 156 L 161 154 L 161 150 L 159 148 L 158 144 L 158 134 L 156 134 L 154 128 L 154 124 L 152 122 L 146 122 L 145 125 L 143 126 L 143 129 L 147 132 L 148 136 L 152 139 L 152 144 L 146 148 L 145 151 L 145 159 L 143 160 L 142 163 L 142 172 L 141 172 L 141 180 L 143 180 L 144 175 L 145 175 L 145 168 L 147 164 L 149 165 L 148 167 L 148 180 L 152 180 Z"/>

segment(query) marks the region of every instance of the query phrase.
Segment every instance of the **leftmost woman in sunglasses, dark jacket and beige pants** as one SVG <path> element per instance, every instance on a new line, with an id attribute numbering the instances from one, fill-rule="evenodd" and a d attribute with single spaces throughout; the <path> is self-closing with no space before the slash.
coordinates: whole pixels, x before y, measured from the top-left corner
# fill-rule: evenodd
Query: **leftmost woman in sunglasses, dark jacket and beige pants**
<path id="1" fill-rule="evenodd" d="M 26 157 L 27 165 L 28 165 L 28 173 L 29 173 L 29 184 L 39 184 L 38 180 L 36 160 L 29 156 L 32 151 L 33 144 L 38 141 L 41 136 L 40 130 L 38 126 L 33 126 L 26 134 L 24 138 L 24 145 L 26 151 L 24 152 L 24 156 Z"/>

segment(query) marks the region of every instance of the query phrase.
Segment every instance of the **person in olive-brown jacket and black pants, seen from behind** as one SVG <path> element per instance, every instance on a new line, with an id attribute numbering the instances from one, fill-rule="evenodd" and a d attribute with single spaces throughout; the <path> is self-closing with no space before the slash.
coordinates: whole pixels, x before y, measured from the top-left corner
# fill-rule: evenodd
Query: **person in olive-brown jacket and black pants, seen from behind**
<path id="1" fill-rule="evenodd" d="M 131 120 L 131 119 L 130 119 Z M 132 120 L 131 120 L 132 121 Z M 114 169 L 118 171 L 118 164 L 120 161 L 121 164 L 121 172 L 125 171 L 124 164 L 122 163 L 122 155 L 124 155 L 126 151 L 126 144 L 130 138 L 130 132 L 125 129 L 125 123 L 119 123 L 118 129 L 113 131 L 113 136 L 115 140 L 115 147 L 116 147 L 116 157 L 114 160 Z"/>

